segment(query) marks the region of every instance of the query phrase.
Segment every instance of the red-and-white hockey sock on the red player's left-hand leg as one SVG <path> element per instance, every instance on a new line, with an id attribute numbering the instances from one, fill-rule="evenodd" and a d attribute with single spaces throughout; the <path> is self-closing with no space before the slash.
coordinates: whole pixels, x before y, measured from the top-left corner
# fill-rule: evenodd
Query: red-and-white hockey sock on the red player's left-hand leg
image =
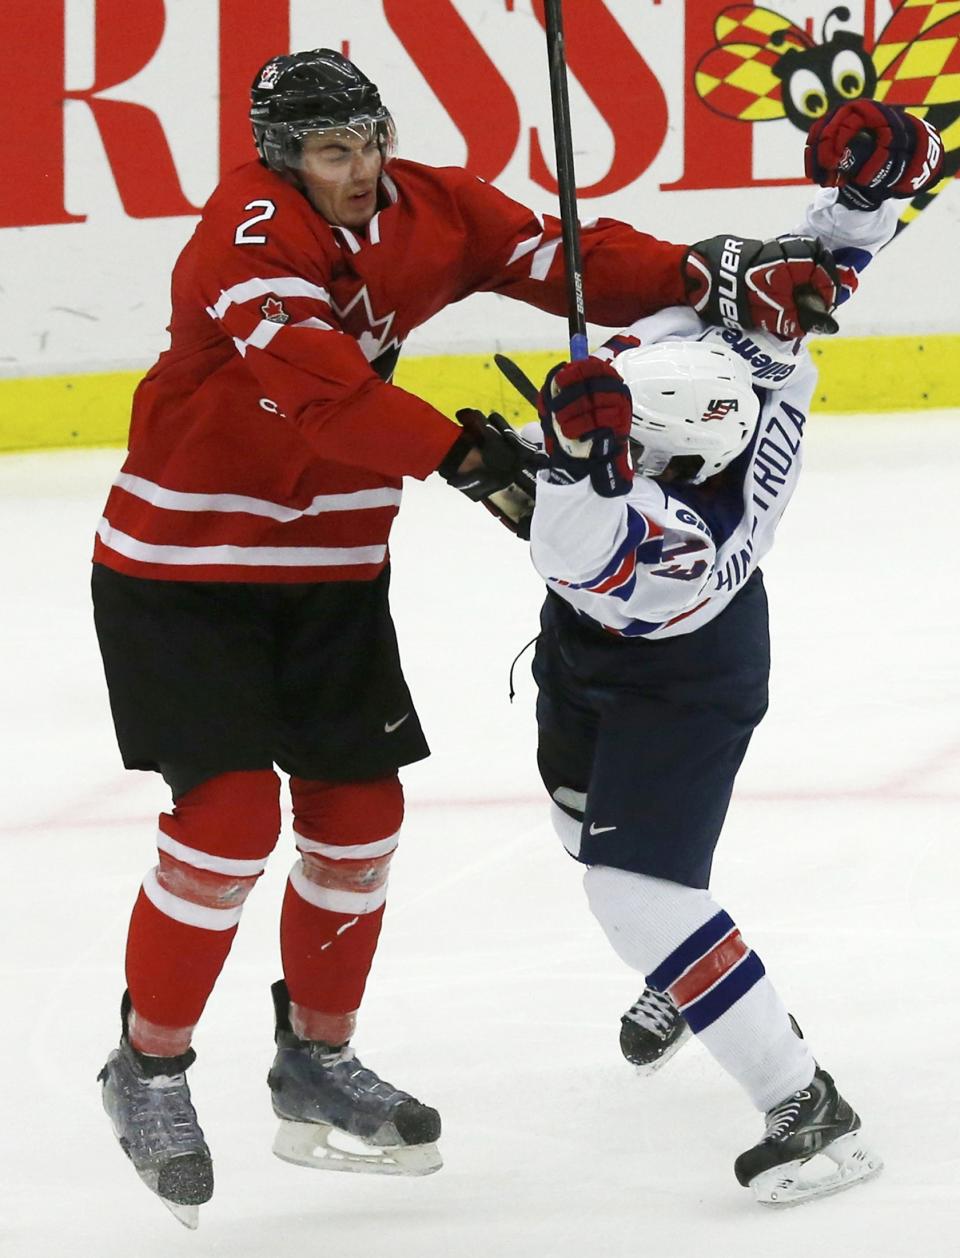
<path id="1" fill-rule="evenodd" d="M 128 1034 L 140 1052 L 189 1048 L 279 824 L 273 770 L 220 774 L 161 814 L 160 863 L 143 879 L 127 935 Z"/>

